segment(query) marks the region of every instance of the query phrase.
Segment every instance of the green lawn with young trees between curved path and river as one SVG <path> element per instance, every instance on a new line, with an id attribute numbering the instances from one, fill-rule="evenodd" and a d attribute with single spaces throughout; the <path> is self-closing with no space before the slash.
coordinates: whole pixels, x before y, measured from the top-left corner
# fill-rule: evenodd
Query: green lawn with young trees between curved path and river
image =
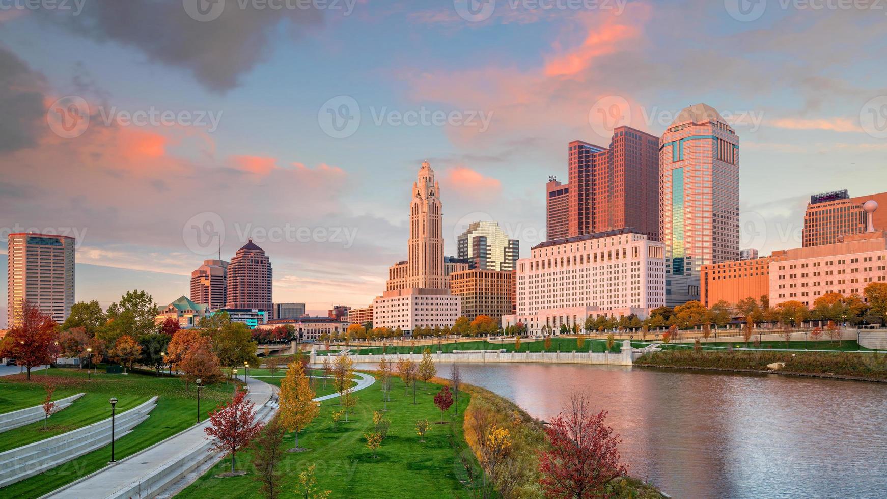
<path id="1" fill-rule="evenodd" d="M 391 402 L 386 414 L 391 420 L 388 438 L 382 443 L 377 458 L 365 448 L 364 433 L 373 425 L 373 410 L 382 409 L 381 384 L 358 391 L 356 413 L 349 417 L 349 423 L 340 423 L 334 430 L 330 415 L 340 410 L 336 400 L 322 402 L 320 416 L 307 430 L 299 435 L 299 445 L 311 450 L 300 453 L 287 453 L 280 463 L 284 478 L 283 497 L 292 497 L 300 472 L 310 464 L 317 466 L 319 487 L 331 490 L 331 497 L 470 497 L 469 491 L 459 481 L 462 472 L 458 449 L 454 443 L 463 441 L 462 413 L 468 397 L 460 397 L 459 416 L 447 414 L 446 425 L 432 425 L 421 443 L 415 433 L 415 422 L 419 418 L 439 421 L 441 414 L 434 405 L 434 395 L 440 386 L 419 383 L 417 405 L 412 405 L 412 391 L 404 393 L 404 385 L 393 381 Z M 287 436 L 287 445 L 292 446 Z M 251 471 L 248 455 L 239 455 L 237 467 L 249 470 L 246 476 L 217 479 L 214 475 L 231 468 L 230 458 L 205 473 L 199 480 L 186 488 L 180 498 L 263 497 L 256 482 L 255 472 Z"/>

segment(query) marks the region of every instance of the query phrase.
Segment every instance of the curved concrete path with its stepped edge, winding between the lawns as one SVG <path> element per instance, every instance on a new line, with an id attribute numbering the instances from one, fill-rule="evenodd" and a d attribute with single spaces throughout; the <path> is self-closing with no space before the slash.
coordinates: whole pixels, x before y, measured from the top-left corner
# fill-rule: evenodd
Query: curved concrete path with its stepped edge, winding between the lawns
<path id="1" fill-rule="evenodd" d="M 373 385 L 375 378 L 357 372 L 361 379 L 352 391 Z M 239 377 L 243 378 L 243 377 Z M 257 406 L 256 416 L 271 419 L 277 409 L 277 386 L 257 378 L 249 379 L 247 398 Z M 321 402 L 339 394 L 329 394 L 314 400 Z M 208 467 L 224 457 L 222 452 L 208 452 L 211 447 L 203 429 L 209 420 L 193 425 L 141 452 L 111 464 L 66 487 L 43 497 L 82 499 L 135 499 L 174 495 L 200 477 Z M 208 465 L 207 465 L 208 464 Z"/>

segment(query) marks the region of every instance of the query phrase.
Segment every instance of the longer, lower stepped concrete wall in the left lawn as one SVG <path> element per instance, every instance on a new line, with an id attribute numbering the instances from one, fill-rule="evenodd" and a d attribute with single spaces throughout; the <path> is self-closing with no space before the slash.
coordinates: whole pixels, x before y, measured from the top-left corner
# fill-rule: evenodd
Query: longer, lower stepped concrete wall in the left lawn
<path id="1" fill-rule="evenodd" d="M 157 406 L 157 397 L 115 417 L 114 440 L 130 433 Z M 111 443 L 111 417 L 0 453 L 0 487 L 25 480 Z"/>

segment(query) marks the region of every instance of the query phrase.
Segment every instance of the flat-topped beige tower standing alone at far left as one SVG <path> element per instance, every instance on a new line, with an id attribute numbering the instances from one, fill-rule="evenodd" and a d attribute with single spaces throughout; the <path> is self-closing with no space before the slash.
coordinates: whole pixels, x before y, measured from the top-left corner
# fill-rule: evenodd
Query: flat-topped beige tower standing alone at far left
<path id="1" fill-rule="evenodd" d="M 22 301 L 36 305 L 61 324 L 74 305 L 75 239 L 18 232 L 8 236 L 7 324 L 18 326 Z"/>

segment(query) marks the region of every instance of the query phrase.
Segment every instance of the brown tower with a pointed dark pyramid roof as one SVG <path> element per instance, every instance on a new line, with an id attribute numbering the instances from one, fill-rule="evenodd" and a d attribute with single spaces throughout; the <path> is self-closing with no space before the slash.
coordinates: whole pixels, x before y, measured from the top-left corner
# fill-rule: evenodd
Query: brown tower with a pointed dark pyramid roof
<path id="1" fill-rule="evenodd" d="M 253 239 L 237 250 L 228 264 L 225 308 L 255 308 L 267 318 L 274 308 L 271 260 Z"/>

